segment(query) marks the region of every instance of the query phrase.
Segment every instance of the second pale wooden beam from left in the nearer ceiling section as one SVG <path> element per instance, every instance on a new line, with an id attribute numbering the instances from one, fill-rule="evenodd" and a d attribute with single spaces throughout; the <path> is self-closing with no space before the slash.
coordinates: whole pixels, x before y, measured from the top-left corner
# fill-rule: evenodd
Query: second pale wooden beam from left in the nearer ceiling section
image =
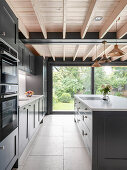
<path id="1" fill-rule="evenodd" d="M 36 17 L 38 19 L 38 22 L 40 24 L 44 38 L 47 39 L 47 31 L 45 27 L 44 17 L 41 15 L 40 10 L 39 10 L 40 9 L 39 0 L 31 0 L 31 3 L 34 9 L 34 12 L 36 14 Z"/>

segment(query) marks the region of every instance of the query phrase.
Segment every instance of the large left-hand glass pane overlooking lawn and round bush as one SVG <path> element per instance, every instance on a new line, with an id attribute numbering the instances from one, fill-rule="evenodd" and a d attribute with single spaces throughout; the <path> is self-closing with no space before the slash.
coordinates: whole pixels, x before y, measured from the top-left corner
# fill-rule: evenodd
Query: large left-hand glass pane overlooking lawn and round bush
<path id="1" fill-rule="evenodd" d="M 53 111 L 73 111 L 74 94 L 91 94 L 91 67 L 53 66 Z"/>

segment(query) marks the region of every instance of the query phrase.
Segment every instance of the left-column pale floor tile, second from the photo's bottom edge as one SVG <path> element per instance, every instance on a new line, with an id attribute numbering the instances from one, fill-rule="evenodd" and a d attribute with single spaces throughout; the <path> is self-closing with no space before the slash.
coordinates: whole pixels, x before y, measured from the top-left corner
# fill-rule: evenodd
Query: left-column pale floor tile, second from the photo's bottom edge
<path id="1" fill-rule="evenodd" d="M 63 137 L 39 136 L 30 155 L 63 155 Z"/>

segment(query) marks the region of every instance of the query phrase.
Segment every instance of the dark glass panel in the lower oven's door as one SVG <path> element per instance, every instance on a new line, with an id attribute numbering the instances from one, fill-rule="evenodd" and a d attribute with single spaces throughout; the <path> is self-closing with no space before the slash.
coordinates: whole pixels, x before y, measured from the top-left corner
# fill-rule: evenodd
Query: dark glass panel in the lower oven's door
<path id="1" fill-rule="evenodd" d="M 13 99 L 8 98 L 8 100 L 2 101 L 1 109 L 2 109 L 1 112 L 2 128 L 17 120 L 17 98 L 13 98 Z"/>

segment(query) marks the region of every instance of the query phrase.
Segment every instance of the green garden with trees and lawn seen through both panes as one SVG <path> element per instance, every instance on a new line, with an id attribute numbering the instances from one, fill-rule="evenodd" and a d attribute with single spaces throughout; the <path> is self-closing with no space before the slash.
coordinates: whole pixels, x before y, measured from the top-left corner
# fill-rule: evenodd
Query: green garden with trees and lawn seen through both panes
<path id="1" fill-rule="evenodd" d="M 94 90 L 112 86 L 111 94 L 127 96 L 127 67 L 95 68 Z M 91 94 L 91 67 L 53 67 L 53 110 L 74 110 L 74 94 Z"/>

